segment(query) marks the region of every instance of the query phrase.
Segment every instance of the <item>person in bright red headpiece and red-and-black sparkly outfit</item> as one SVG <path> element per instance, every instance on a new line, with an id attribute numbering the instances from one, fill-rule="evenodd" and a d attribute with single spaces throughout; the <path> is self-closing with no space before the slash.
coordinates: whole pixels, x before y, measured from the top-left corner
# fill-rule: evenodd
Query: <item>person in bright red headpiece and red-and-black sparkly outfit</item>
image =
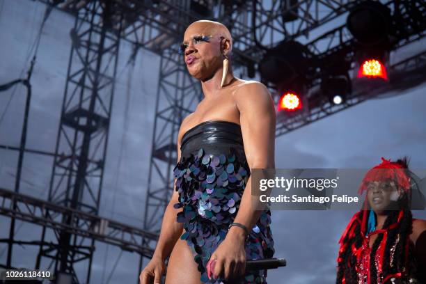
<path id="1" fill-rule="evenodd" d="M 365 174 L 363 208 L 340 237 L 336 283 L 426 283 L 426 221 L 411 214 L 407 158 Z"/>

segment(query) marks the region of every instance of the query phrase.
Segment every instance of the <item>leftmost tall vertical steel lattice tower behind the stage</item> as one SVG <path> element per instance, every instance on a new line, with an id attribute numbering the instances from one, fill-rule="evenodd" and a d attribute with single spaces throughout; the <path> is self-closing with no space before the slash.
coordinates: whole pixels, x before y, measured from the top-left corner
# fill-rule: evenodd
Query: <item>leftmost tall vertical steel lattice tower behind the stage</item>
<path id="1" fill-rule="evenodd" d="M 95 215 L 100 206 L 120 44 L 120 25 L 114 29 L 113 9 L 108 1 L 91 1 L 76 14 L 49 187 L 49 202 Z M 74 230 L 94 226 L 87 221 L 68 212 L 61 216 L 61 223 Z M 57 227 L 53 228 L 55 239 L 47 245 L 48 230 L 43 226 L 36 269 L 48 260 L 54 271 L 70 274 L 73 283 L 81 283 L 74 265 L 85 261 L 88 283 L 97 238 Z"/>

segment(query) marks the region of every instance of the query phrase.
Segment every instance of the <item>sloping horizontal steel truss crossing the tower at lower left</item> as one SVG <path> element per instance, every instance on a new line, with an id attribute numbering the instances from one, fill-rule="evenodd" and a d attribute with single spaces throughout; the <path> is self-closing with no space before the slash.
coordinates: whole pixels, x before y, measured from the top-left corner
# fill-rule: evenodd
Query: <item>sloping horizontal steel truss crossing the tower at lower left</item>
<path id="1" fill-rule="evenodd" d="M 15 208 L 13 207 L 13 203 L 16 204 Z M 147 258 L 152 257 L 155 246 L 141 246 L 141 243 L 145 242 L 145 240 L 155 241 L 158 238 L 158 235 L 152 232 L 134 228 L 124 223 L 1 188 L 0 214 L 46 226 L 55 231 L 65 231 L 72 235 L 96 239 L 99 242 L 118 246 L 125 251 L 140 253 Z M 77 227 L 63 223 L 62 220 L 68 216 L 71 216 L 75 222 L 79 221 L 80 226 Z M 0 240 L 4 242 L 7 239 Z M 58 249 L 58 244 L 44 240 L 32 242 L 17 241 L 16 243 L 36 246 L 44 244 L 51 250 Z M 81 247 L 84 247 L 84 245 L 81 245 Z M 5 265 L 0 266 L 6 268 Z"/>

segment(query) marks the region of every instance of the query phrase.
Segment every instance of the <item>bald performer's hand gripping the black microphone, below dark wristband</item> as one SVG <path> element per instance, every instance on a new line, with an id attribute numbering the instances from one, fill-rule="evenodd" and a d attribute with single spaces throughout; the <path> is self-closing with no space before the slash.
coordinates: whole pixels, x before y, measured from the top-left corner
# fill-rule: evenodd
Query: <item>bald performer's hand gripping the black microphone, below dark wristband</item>
<path id="1" fill-rule="evenodd" d="M 216 260 L 212 269 L 213 278 L 220 276 L 226 280 L 232 280 L 243 276 L 246 272 L 245 235 L 239 232 L 234 233 L 235 231 L 231 233 L 232 229 L 239 228 L 232 227 L 210 257 L 209 262 Z"/>

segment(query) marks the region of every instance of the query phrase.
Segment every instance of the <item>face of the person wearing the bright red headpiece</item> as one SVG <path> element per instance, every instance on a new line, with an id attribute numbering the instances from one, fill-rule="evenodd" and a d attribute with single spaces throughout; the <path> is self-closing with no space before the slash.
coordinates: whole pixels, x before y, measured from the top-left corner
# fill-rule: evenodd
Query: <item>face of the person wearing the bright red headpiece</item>
<path id="1" fill-rule="evenodd" d="M 384 210 L 392 210 L 398 198 L 397 188 L 393 181 L 369 182 L 367 198 L 374 212 L 380 214 Z"/>

